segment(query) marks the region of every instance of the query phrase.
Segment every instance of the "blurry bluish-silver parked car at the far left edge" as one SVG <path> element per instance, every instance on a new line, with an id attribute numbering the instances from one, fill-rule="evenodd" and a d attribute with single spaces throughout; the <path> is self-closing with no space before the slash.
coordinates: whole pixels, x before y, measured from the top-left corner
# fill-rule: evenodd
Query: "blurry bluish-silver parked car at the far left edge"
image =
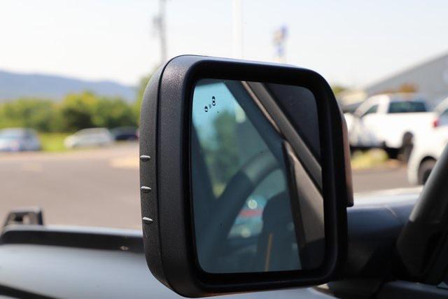
<path id="1" fill-rule="evenodd" d="M 0 151 L 40 151 L 41 141 L 35 130 L 10 128 L 0 130 Z"/>

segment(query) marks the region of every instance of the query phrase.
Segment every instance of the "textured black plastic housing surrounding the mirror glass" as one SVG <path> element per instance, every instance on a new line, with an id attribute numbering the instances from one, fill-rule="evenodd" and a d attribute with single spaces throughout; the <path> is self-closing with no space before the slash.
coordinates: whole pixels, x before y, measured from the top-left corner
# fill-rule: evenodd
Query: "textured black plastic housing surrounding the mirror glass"
<path id="1" fill-rule="evenodd" d="M 325 256 L 319 267 L 211 273 L 200 266 L 193 219 L 190 127 L 193 91 L 204 78 L 300 85 L 314 95 L 325 221 Z M 270 112 L 269 107 L 266 110 Z M 276 116 L 272 118 L 275 122 Z M 291 141 L 288 134 L 282 136 Z M 330 281 L 346 256 L 346 207 L 353 204 L 349 159 L 342 112 L 330 86 L 316 72 L 214 57 L 173 58 L 153 75 L 141 106 L 141 212 L 148 267 L 162 284 L 187 297 L 313 286 Z"/>

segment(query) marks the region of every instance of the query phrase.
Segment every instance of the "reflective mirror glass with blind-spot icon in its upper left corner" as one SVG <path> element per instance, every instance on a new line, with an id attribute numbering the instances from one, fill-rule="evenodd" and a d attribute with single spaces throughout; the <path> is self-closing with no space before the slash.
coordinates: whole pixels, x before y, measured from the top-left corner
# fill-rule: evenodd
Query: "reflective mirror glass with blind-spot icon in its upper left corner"
<path id="1" fill-rule="evenodd" d="M 325 233 L 316 100 L 306 88 L 202 79 L 190 173 L 205 272 L 312 270 Z"/>

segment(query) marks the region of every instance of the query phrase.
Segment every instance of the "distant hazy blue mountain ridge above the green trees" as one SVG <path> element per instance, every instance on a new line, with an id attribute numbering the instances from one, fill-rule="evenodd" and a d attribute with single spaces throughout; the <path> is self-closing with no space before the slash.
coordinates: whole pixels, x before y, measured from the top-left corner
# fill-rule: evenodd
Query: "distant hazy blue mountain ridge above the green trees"
<path id="1" fill-rule="evenodd" d="M 90 90 L 97 95 L 134 101 L 136 88 L 113 81 L 86 81 L 63 76 L 19 74 L 0 70 L 0 102 L 18 97 L 42 97 L 58 101 L 70 92 Z"/>

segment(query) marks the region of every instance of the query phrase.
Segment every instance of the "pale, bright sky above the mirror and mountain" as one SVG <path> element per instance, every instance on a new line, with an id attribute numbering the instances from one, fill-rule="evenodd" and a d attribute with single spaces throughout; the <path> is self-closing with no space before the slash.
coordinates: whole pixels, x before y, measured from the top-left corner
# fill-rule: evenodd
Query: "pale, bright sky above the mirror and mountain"
<path id="1" fill-rule="evenodd" d="M 241 0 L 243 58 L 363 87 L 448 53 L 448 1 Z M 0 69 L 136 85 L 160 64 L 158 0 L 1 0 Z M 167 0 L 167 55 L 232 57 L 232 0 Z"/>

